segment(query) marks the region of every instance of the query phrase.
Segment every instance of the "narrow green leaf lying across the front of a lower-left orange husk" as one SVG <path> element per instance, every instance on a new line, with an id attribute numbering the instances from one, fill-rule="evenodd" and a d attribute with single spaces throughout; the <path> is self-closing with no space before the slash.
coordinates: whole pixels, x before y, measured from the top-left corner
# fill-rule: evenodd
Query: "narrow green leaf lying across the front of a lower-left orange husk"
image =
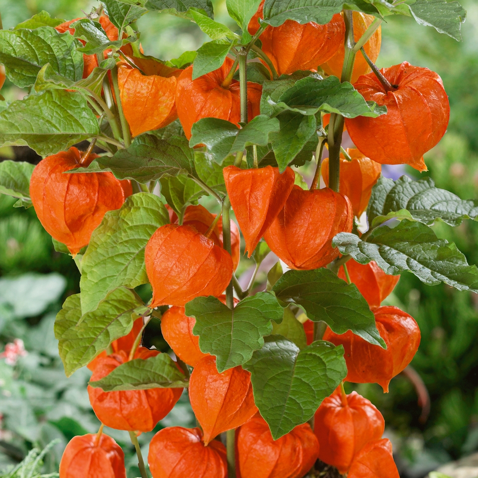
<path id="1" fill-rule="evenodd" d="M 168 354 L 149 359 L 134 359 L 122 363 L 106 377 L 88 382 L 105 392 L 118 390 L 147 390 L 148 388 L 183 388 L 189 385 L 184 373 Z"/>

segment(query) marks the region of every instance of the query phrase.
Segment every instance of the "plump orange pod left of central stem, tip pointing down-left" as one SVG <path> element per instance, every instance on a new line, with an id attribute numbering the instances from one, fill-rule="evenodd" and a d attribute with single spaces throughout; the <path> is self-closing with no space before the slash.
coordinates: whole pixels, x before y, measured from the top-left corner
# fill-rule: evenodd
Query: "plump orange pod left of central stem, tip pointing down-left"
<path id="1" fill-rule="evenodd" d="M 146 244 L 144 260 L 153 289 L 151 307 L 218 297 L 233 275 L 229 252 L 191 226 L 161 226 Z"/>

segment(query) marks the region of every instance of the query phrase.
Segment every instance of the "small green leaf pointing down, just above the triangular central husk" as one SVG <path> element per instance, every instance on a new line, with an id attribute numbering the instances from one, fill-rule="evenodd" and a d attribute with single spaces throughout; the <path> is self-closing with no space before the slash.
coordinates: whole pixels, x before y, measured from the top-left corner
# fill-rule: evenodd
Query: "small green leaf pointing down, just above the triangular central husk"
<path id="1" fill-rule="evenodd" d="M 315 116 L 303 116 L 288 111 L 277 119 L 280 122 L 280 130 L 270 135 L 270 141 L 279 172 L 282 173 L 311 138 L 318 142 L 317 119 Z"/>

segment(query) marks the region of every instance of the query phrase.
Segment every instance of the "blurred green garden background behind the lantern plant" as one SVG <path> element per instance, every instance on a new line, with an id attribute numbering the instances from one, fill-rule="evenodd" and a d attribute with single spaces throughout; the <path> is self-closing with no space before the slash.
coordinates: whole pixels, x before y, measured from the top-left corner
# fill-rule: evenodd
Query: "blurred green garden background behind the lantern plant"
<path id="1" fill-rule="evenodd" d="M 225 2 L 213 3 L 217 19 L 227 22 Z M 426 155 L 429 171 L 422 176 L 469 199 L 478 197 L 478 2 L 462 4 L 468 9 L 463 42 L 420 27 L 411 18 L 387 18 L 377 63 L 386 67 L 406 60 L 440 74 L 450 97 L 451 120 L 443 140 Z M 0 11 L 3 27 L 9 28 L 42 9 L 71 19 L 93 5 L 88 0 L 0 0 Z M 169 15 L 150 13 L 138 20 L 138 27 L 145 53 L 165 60 L 207 40 L 196 25 Z M 8 82 L 1 93 L 7 101 L 24 94 Z M 15 151 L 20 153 L 28 154 Z M 0 159 L 13 154 L 10 148 L 0 149 Z M 417 177 L 416 171 L 407 173 Z M 16 209 L 13 203 L 0 195 L 0 350 L 19 338 L 28 355 L 15 365 L 0 360 L 0 470 L 21 460 L 31 447 L 58 438 L 46 459 L 45 472 L 51 472 L 72 436 L 94 433 L 99 426 L 86 393 L 88 370 L 66 379 L 53 336 L 62 301 L 79 291 L 79 273 L 71 257 L 54 251 L 33 209 Z M 478 263 L 476 222 L 466 221 L 456 229 L 439 223 L 434 229 L 439 237 L 456 242 L 470 263 Z M 147 288 L 142 293 L 147 296 Z M 412 365 L 430 393 L 430 415 L 426 422 L 419 421 L 417 394 L 405 376 L 392 380 L 388 394 L 373 384 L 356 388 L 383 413 L 401 476 L 419 478 L 478 450 L 478 296 L 445 285 L 425 286 L 404 274 L 387 303 L 409 312 L 420 326 L 422 342 Z M 148 327 L 147 340 L 166 350 L 157 323 Z M 192 420 L 183 396 L 158 427 L 191 426 Z M 128 477 L 138 476 L 127 434 L 107 433 L 126 450 Z M 146 453 L 150 436 L 140 437 Z"/>

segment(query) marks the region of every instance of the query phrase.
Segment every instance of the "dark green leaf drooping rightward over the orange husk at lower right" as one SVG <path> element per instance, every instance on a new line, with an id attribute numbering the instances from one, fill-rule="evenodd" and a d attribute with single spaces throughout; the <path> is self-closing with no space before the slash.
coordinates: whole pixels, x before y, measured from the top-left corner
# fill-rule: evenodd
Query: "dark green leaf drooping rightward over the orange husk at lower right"
<path id="1" fill-rule="evenodd" d="M 336 334 L 351 330 L 369 344 L 386 348 L 375 317 L 355 284 L 331 270 L 288 270 L 272 287 L 277 299 L 294 303 L 314 322 L 324 321 Z"/>

